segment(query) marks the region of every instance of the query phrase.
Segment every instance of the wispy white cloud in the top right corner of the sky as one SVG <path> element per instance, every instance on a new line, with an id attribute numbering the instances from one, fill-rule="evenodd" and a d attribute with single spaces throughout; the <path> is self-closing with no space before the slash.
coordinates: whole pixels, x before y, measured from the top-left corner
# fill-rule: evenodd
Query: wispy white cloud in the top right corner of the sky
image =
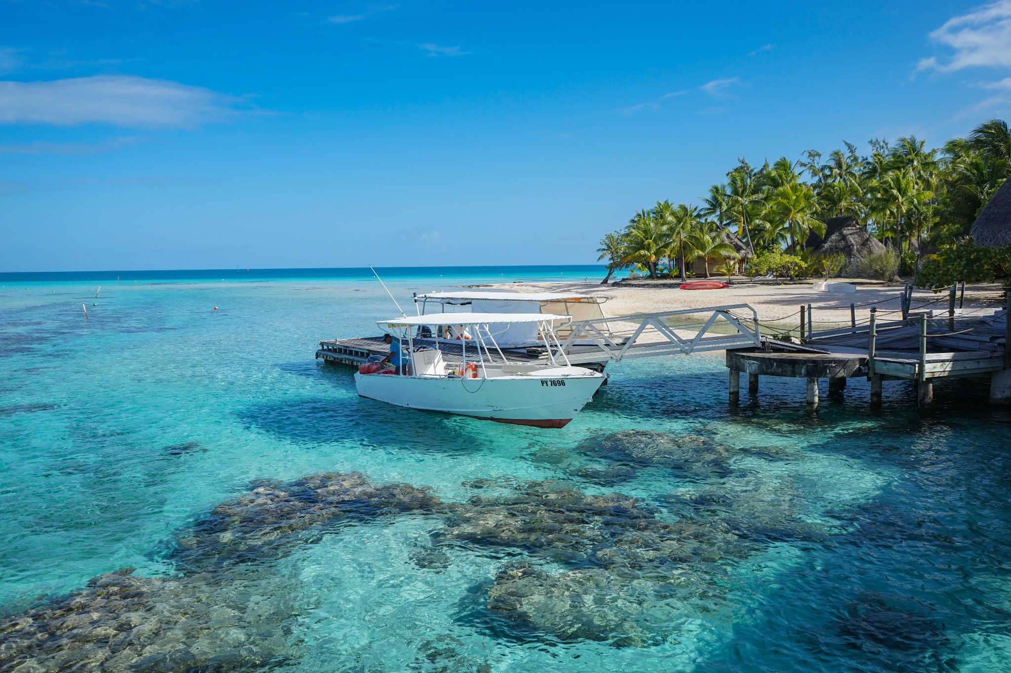
<path id="1" fill-rule="evenodd" d="M 922 59 L 917 70 L 944 73 L 974 66 L 1011 66 L 1011 0 L 998 0 L 948 19 L 930 37 L 954 49 L 948 64 Z"/>

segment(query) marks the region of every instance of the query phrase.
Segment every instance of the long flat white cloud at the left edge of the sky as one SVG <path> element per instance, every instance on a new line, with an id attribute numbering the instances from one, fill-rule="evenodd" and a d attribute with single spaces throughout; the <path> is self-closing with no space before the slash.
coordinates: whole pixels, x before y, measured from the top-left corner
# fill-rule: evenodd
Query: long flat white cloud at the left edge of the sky
<path id="1" fill-rule="evenodd" d="M 202 87 L 128 76 L 0 81 L 0 123 L 188 127 L 236 113 L 240 99 Z"/>

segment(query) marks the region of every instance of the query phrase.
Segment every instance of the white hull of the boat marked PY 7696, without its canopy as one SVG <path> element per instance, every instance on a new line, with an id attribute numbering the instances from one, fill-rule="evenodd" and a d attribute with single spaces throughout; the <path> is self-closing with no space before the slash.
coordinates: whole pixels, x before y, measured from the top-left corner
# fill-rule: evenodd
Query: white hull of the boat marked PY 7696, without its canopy
<path id="1" fill-rule="evenodd" d="M 579 369 L 578 374 L 562 370 Z M 540 374 L 540 372 L 538 372 Z M 486 421 L 561 428 L 575 418 L 604 382 L 581 367 L 544 375 L 440 378 L 355 374 L 358 395 L 397 407 L 471 416 Z"/>

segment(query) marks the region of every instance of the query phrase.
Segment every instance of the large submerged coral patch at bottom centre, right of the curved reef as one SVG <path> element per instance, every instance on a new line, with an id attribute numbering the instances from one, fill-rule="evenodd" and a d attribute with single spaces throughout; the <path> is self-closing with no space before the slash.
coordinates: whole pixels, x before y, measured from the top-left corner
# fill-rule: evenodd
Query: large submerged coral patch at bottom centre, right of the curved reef
<path id="1" fill-rule="evenodd" d="M 712 609 L 732 590 L 728 560 L 814 528 L 790 497 L 755 488 L 748 497 L 726 497 L 717 513 L 716 494 L 709 494 L 683 499 L 681 517 L 663 521 L 622 493 L 591 495 L 534 481 L 514 496 L 448 504 L 452 516 L 437 540 L 532 555 L 531 563 L 499 572 L 487 589 L 486 606 L 507 619 L 565 640 L 645 646 L 671 635 L 672 614 L 692 604 Z M 755 506 L 760 514 L 750 512 Z M 540 567 L 547 563 L 570 569 L 550 573 Z"/>

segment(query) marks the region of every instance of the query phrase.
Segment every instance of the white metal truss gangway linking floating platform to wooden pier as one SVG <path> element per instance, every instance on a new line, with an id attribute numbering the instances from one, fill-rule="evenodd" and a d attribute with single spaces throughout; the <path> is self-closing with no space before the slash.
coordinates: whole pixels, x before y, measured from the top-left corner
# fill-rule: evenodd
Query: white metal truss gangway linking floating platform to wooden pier
<path id="1" fill-rule="evenodd" d="M 739 315 L 747 312 L 750 319 Z M 671 327 L 666 323 L 677 316 L 706 314 L 709 317 L 701 327 Z M 710 334 L 714 328 L 726 326 L 734 332 Z M 583 320 L 560 331 L 563 334 L 569 331 L 561 342 L 561 350 L 572 364 L 761 347 L 758 314 L 747 304 Z"/>

